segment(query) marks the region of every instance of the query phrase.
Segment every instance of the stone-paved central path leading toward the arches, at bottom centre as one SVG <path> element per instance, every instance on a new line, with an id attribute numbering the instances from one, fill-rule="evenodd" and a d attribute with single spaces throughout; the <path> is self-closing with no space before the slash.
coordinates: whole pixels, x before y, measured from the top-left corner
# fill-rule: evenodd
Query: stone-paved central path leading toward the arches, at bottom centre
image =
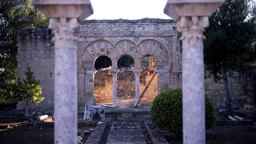
<path id="1" fill-rule="evenodd" d="M 147 144 L 141 129 L 136 122 L 114 121 L 107 144 Z"/>

